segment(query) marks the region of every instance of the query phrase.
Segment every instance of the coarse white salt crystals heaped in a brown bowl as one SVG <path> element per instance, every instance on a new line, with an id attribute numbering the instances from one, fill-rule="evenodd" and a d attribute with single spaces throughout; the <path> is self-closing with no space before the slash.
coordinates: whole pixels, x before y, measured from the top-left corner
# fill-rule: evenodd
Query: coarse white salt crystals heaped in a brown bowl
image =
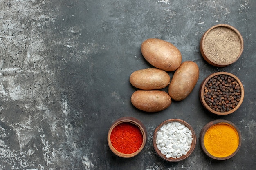
<path id="1" fill-rule="evenodd" d="M 157 132 L 156 144 L 166 158 L 180 158 L 186 155 L 193 141 L 192 132 L 180 122 L 164 124 Z"/>

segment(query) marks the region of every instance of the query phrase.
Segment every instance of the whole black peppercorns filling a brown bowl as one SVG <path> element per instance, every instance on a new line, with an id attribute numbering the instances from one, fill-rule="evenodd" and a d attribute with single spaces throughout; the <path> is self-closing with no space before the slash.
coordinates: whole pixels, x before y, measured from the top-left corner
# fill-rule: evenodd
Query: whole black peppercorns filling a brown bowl
<path id="1" fill-rule="evenodd" d="M 240 85 L 231 76 L 216 75 L 209 79 L 204 87 L 204 100 L 217 112 L 227 112 L 234 109 L 240 101 Z"/>

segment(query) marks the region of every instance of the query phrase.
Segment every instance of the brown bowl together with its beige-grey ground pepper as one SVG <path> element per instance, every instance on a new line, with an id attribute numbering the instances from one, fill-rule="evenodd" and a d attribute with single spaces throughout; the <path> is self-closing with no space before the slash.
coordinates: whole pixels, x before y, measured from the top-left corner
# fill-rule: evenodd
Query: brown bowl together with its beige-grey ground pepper
<path id="1" fill-rule="evenodd" d="M 208 29 L 201 38 L 200 51 L 204 60 L 218 67 L 236 62 L 244 48 L 243 37 L 237 29 L 218 24 Z"/>

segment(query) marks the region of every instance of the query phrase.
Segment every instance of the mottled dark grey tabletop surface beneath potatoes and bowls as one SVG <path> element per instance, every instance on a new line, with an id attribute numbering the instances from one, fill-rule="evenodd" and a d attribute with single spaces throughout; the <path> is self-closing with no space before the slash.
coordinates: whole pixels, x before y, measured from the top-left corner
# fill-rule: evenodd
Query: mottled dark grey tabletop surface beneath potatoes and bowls
<path id="1" fill-rule="evenodd" d="M 0 169 L 255 169 L 255 7 L 255 0 L 0 0 Z M 207 64 L 199 50 L 203 33 L 216 24 L 234 26 L 245 43 L 240 59 L 225 68 Z M 152 67 L 140 51 L 147 38 L 173 43 L 182 62 L 200 68 L 193 92 L 159 113 L 130 102 L 136 90 L 130 74 Z M 245 88 L 231 115 L 210 114 L 199 100 L 202 80 L 217 71 L 235 74 Z M 130 159 L 107 144 L 110 125 L 124 116 L 148 130 L 146 147 Z M 231 159 L 214 161 L 198 140 L 186 160 L 163 161 L 153 131 L 171 118 L 191 124 L 197 139 L 209 121 L 229 120 L 240 129 L 242 146 Z"/>

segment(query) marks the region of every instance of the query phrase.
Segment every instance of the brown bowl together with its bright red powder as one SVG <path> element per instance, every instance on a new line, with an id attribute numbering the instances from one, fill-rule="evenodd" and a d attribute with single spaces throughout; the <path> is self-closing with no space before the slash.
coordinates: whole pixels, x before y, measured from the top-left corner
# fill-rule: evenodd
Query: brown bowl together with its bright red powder
<path id="1" fill-rule="evenodd" d="M 119 157 L 130 158 L 138 155 L 146 141 L 146 127 L 134 117 L 117 119 L 108 131 L 108 146 Z"/>

